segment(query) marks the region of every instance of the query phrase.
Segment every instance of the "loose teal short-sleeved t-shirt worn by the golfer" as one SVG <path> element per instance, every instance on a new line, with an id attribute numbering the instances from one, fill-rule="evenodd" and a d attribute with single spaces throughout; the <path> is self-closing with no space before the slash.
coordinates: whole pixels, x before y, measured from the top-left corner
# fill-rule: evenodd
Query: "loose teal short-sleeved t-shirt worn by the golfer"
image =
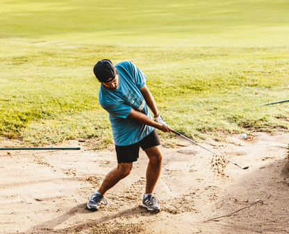
<path id="1" fill-rule="evenodd" d="M 147 76 L 131 61 L 119 62 L 115 68 L 119 76 L 119 85 L 116 90 L 110 90 L 101 84 L 99 103 L 109 113 L 115 145 L 125 146 L 139 142 L 149 135 L 154 127 L 128 117 L 131 108 L 134 108 L 151 118 L 147 103 L 139 90 L 145 85 Z"/>

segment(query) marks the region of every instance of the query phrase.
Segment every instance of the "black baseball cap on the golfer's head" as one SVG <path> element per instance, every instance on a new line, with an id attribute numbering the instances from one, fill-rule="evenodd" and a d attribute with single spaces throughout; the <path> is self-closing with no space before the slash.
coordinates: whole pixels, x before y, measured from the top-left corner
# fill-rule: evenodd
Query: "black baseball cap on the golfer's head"
<path id="1" fill-rule="evenodd" d="M 117 75 L 117 69 L 113 66 L 113 62 L 108 59 L 97 62 L 93 67 L 93 72 L 97 79 L 103 83 L 113 81 Z"/>

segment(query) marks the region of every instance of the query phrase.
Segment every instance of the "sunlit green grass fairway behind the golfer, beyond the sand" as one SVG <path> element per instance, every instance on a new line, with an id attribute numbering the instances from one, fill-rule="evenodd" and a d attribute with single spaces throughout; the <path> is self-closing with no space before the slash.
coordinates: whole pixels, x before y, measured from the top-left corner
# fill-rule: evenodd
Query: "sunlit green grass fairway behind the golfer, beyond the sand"
<path id="1" fill-rule="evenodd" d="M 288 1 L 1 1 L 0 134 L 112 141 L 92 68 L 131 60 L 189 137 L 288 131 Z"/>

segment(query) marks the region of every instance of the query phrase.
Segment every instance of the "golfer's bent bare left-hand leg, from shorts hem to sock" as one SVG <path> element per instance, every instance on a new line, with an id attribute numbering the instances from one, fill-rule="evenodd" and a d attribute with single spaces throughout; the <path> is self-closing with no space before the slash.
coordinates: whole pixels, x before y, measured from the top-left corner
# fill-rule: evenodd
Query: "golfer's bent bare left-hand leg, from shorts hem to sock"
<path id="1" fill-rule="evenodd" d="M 120 180 L 122 180 L 126 176 L 129 176 L 132 168 L 133 162 L 122 162 L 117 164 L 117 168 L 113 169 L 106 175 L 106 178 L 104 178 L 104 182 L 101 184 L 97 192 L 104 195 L 110 188 L 115 186 Z"/>

